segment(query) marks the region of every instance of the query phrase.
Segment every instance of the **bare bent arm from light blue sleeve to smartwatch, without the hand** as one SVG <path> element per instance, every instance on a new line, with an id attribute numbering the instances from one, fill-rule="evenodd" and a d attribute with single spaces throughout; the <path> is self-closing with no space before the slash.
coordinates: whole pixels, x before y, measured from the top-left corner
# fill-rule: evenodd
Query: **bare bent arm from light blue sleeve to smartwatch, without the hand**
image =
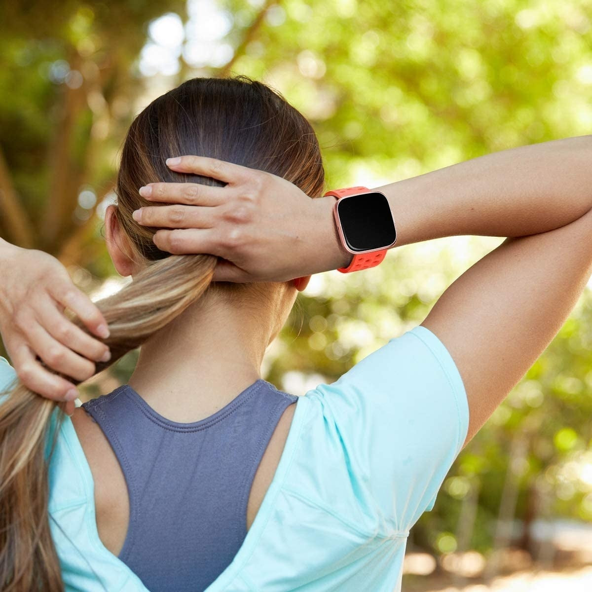
<path id="1" fill-rule="evenodd" d="M 590 162 L 592 136 L 581 136 L 378 188 L 399 244 L 453 234 L 513 237 L 453 282 L 422 323 L 464 381 L 466 441 L 549 345 L 590 278 Z"/>

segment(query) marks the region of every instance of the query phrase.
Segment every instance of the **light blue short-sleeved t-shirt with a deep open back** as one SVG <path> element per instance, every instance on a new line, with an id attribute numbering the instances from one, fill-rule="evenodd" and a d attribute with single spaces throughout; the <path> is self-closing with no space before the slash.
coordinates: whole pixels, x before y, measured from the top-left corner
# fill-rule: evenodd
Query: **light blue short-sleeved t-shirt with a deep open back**
<path id="1" fill-rule="evenodd" d="M 0 388 L 13 377 L 0 359 Z M 467 429 L 443 343 L 423 326 L 391 339 L 298 399 L 255 521 L 206 592 L 400 590 L 409 529 L 432 509 Z M 49 511 L 67 592 L 149 592 L 99 539 L 69 417 L 50 463 Z"/>

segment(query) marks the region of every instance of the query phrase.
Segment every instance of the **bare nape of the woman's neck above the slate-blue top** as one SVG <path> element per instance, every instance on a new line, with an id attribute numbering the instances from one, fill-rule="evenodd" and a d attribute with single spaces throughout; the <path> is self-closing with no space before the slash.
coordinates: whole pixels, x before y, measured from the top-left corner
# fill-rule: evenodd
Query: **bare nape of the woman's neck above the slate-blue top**
<path id="1" fill-rule="evenodd" d="M 192 305 L 141 346 L 128 384 L 167 419 L 204 419 L 260 378 L 266 320 L 244 304 Z"/>

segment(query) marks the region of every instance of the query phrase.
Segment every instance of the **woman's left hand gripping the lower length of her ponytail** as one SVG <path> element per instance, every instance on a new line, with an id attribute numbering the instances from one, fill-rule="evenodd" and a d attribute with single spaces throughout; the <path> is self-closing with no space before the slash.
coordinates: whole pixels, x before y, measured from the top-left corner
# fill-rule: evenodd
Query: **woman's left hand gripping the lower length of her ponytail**
<path id="1" fill-rule="evenodd" d="M 0 240 L 0 333 L 18 377 L 31 390 L 56 401 L 69 401 L 72 413 L 78 391 L 72 382 L 90 378 L 94 361 L 110 358 L 108 347 L 63 314 L 75 313 L 98 337 L 108 337 L 101 312 L 73 285 L 64 266 L 38 250 Z"/>

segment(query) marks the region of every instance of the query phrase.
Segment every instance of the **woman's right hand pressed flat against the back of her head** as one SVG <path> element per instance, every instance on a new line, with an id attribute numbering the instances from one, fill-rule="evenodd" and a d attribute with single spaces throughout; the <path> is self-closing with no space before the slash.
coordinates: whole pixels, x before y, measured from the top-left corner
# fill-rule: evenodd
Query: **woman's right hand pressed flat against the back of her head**
<path id="1" fill-rule="evenodd" d="M 159 249 L 222 258 L 213 281 L 288 281 L 349 265 L 333 221 L 335 198 L 311 199 L 279 176 L 205 156 L 167 164 L 227 185 L 150 183 L 142 197 L 175 205 L 140 208 L 134 219 L 163 229 L 154 237 Z"/>

